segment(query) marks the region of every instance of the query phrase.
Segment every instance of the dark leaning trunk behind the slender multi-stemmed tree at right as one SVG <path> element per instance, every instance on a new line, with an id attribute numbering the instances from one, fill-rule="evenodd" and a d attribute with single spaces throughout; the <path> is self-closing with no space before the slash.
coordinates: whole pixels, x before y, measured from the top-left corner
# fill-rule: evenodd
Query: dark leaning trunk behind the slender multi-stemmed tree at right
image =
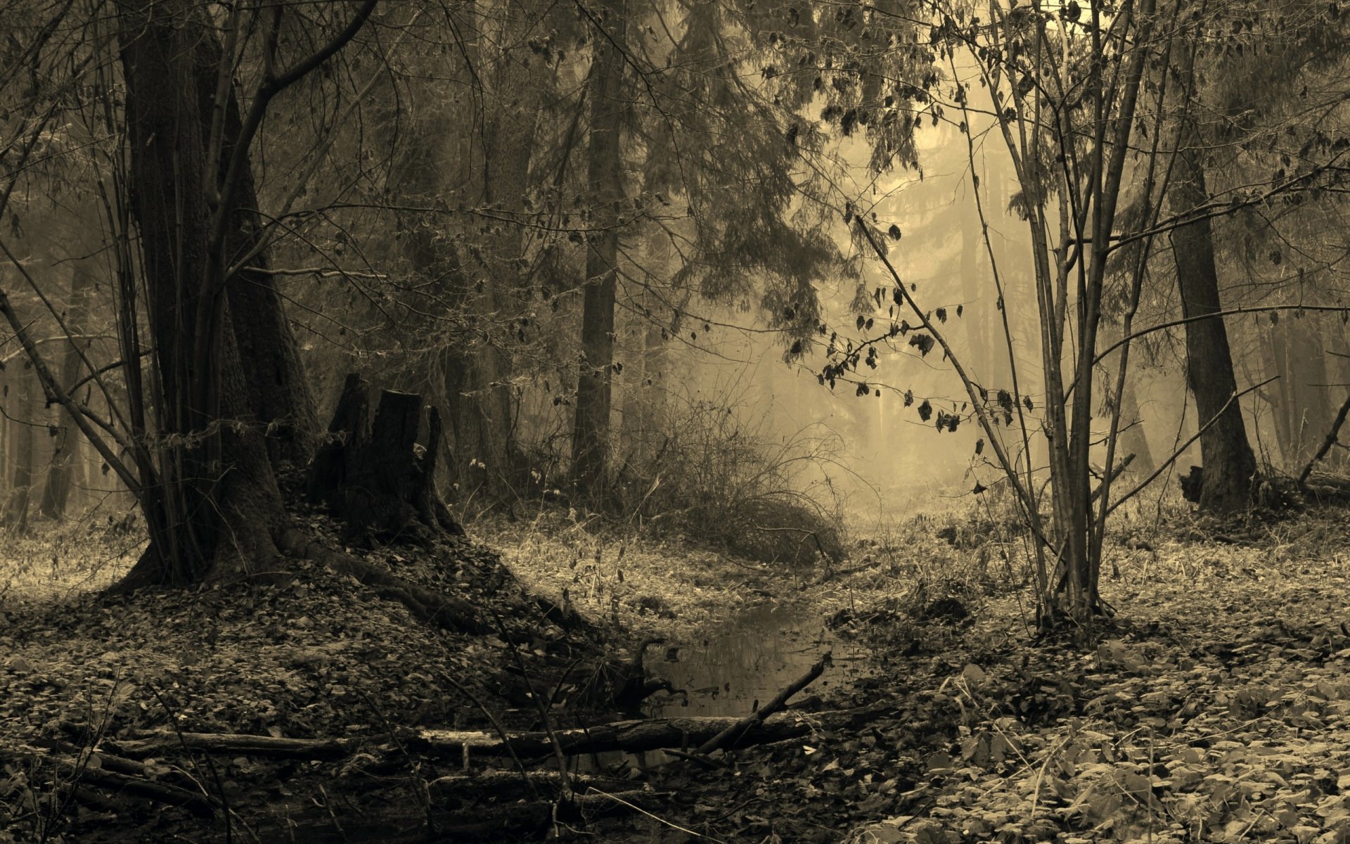
<path id="1" fill-rule="evenodd" d="M 1200 134 L 1192 123 L 1183 127 L 1170 196 L 1173 208 L 1185 212 L 1210 201 L 1202 161 Z M 1218 313 L 1219 273 L 1214 261 L 1214 232 L 1208 219 L 1181 226 L 1172 232 L 1172 255 L 1177 269 L 1184 317 Z M 1204 481 L 1200 509 L 1215 513 L 1242 510 L 1251 504 L 1256 455 L 1247 442 L 1242 406 L 1233 374 L 1233 355 L 1223 317 L 1185 324 L 1187 384 L 1195 396 L 1200 424 L 1200 460 Z"/>

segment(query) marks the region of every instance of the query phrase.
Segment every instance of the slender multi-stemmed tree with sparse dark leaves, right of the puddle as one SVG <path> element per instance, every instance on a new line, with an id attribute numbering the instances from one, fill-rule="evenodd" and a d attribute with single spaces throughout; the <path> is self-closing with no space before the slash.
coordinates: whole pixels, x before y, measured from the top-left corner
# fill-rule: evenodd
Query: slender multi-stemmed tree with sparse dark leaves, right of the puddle
<path id="1" fill-rule="evenodd" d="M 1106 612 L 1098 593 L 1103 525 L 1115 504 L 1110 485 L 1120 471 L 1115 425 L 1108 435 L 1107 470 L 1100 483 L 1094 482 L 1089 462 L 1103 297 L 1137 127 L 1152 122 L 1150 136 L 1157 138 L 1162 119 L 1161 107 L 1153 115 L 1141 113 L 1139 92 L 1150 66 L 1168 65 L 1170 32 L 1152 0 L 1122 4 L 1110 23 L 1095 5 L 1083 9 L 1073 4 L 1072 9 L 1066 5 L 1052 11 L 1035 5 L 1004 9 L 995 4 L 990 14 L 992 19 L 981 20 L 967 9 L 937 7 L 932 43 L 950 70 L 950 80 L 941 90 L 946 92 L 950 107 L 959 109 L 960 131 L 969 139 L 976 130 L 976 113 L 991 115 L 1019 186 L 1013 204 L 1030 234 L 1040 316 L 1040 369 L 1045 385 L 1040 424 L 1050 444 L 1049 516 L 1041 512 L 1030 448 L 1027 417 L 1035 405 L 1023 392 L 1025 374 L 1018 373 L 1011 355 L 1006 311 L 1002 319 L 1013 385 L 990 390 L 971 377 L 948 342 L 941 327 L 948 319 L 946 309 L 921 305 L 918 285 L 903 280 L 887 258 L 887 240 L 898 240 L 899 231 L 887 231 L 884 221 L 859 213 L 856 207 L 845 211 L 845 221 L 888 275 L 890 290 L 878 289 L 875 301 L 880 307 L 886 293 L 890 325 L 880 336 L 857 344 L 849 342 L 842 350 L 832 343 L 837 351 L 824 375 L 833 384 L 850 377 L 860 363 L 875 365 L 878 346 L 896 338 L 907 338 L 907 344 L 921 355 L 941 347 L 964 388 L 967 417 L 973 417 L 984 432 L 979 447 L 987 443 L 992 450 L 1034 536 L 1040 627 L 1053 629 L 1068 623 L 1085 629 L 1095 614 Z M 960 61 L 959 54 L 964 55 Z M 973 97 L 981 90 L 987 103 L 976 105 Z M 1157 97 L 1156 101 L 1161 103 Z M 937 107 L 934 116 L 941 116 Z M 973 162 L 973 142 L 967 149 Z M 1143 193 L 1152 201 L 1153 159 L 1145 163 L 1141 176 Z M 976 180 L 977 176 L 972 177 L 977 186 Z M 981 201 L 979 190 L 973 196 Z M 983 219 L 983 205 L 977 208 Z M 984 240 L 992 255 L 987 226 Z M 1004 277 L 998 266 L 991 269 L 1002 302 Z M 1130 285 L 1133 302 L 1138 301 L 1142 274 L 1142 265 L 1135 266 Z M 1126 338 L 1133 311 L 1126 308 L 1122 324 Z M 910 325 L 902 315 L 917 324 Z M 861 327 L 865 323 L 860 317 Z M 1119 361 L 1123 378 L 1127 346 Z M 859 386 L 859 394 L 864 394 L 864 386 Z M 1119 394 L 1120 389 L 1114 392 Z M 934 417 L 929 401 L 918 405 L 917 412 L 923 421 Z M 938 431 L 954 431 L 961 421 L 961 411 L 936 413 Z M 1008 450 L 1000 425 L 1019 436 L 1021 456 Z M 976 486 L 977 493 L 983 489 Z"/>

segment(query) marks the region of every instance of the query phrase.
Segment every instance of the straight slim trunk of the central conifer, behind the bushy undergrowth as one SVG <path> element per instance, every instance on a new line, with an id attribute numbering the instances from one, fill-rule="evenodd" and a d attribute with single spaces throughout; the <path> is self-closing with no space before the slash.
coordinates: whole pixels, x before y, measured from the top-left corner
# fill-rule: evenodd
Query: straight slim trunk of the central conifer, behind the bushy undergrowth
<path id="1" fill-rule="evenodd" d="M 614 289 L 618 262 L 618 200 L 622 197 L 624 62 L 616 45 L 624 41 L 626 0 L 601 5 L 606 34 L 591 35 L 590 142 L 587 182 L 594 208 L 587 238 L 586 284 L 582 300 L 582 359 L 576 378 L 576 419 L 572 428 L 572 478 L 591 500 L 603 496 L 609 458 L 610 377 L 614 359 Z"/>

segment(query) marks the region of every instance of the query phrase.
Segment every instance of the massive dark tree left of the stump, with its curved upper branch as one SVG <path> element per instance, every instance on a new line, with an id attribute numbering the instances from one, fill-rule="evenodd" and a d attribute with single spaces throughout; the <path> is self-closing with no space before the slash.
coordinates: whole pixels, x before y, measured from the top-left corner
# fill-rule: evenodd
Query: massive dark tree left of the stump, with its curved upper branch
<path id="1" fill-rule="evenodd" d="M 284 72 L 277 69 L 284 7 L 277 7 L 247 120 L 231 119 L 239 112 L 230 63 L 200 5 L 119 7 L 132 212 L 162 390 L 157 427 L 167 443 L 155 485 L 142 486 L 151 544 L 128 575 L 132 583 L 194 582 L 277 555 L 284 509 L 258 423 L 289 417 L 293 442 L 310 431 L 300 427 L 309 413 L 274 404 L 289 406 L 306 389 L 292 365 L 298 357 L 279 300 L 247 269 L 266 267 L 252 236 L 248 147 L 267 103 L 340 49 L 373 5 L 338 41 Z M 255 294 L 232 293 L 240 288 Z M 271 365 L 252 388 L 244 351 L 251 362 Z"/>

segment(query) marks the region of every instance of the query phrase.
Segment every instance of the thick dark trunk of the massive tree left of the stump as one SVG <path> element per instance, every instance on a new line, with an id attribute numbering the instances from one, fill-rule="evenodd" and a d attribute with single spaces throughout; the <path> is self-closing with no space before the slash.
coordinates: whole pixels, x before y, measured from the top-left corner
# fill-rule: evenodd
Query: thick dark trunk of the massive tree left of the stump
<path id="1" fill-rule="evenodd" d="M 225 566 L 247 570 L 275 556 L 281 493 L 236 338 L 255 332 L 251 352 L 293 346 L 294 338 L 278 315 L 252 312 L 250 321 L 236 323 L 231 297 L 223 294 L 230 285 L 221 274 L 235 258 L 230 250 L 251 235 L 248 212 L 230 215 L 223 240 L 213 232 L 208 197 L 219 196 L 219 185 L 208 172 L 211 113 L 201 89 L 202 76 L 215 82 L 219 58 L 209 65 L 201 59 L 219 57 L 220 46 L 202 9 L 192 0 L 127 0 L 119 12 L 132 213 L 165 442 L 158 485 L 140 490 L 150 548 L 128 574 L 130 587 L 194 582 Z M 250 301 L 266 308 L 262 298 Z M 284 377 L 296 375 L 298 370 Z M 284 386 L 304 390 L 301 384 Z"/>

